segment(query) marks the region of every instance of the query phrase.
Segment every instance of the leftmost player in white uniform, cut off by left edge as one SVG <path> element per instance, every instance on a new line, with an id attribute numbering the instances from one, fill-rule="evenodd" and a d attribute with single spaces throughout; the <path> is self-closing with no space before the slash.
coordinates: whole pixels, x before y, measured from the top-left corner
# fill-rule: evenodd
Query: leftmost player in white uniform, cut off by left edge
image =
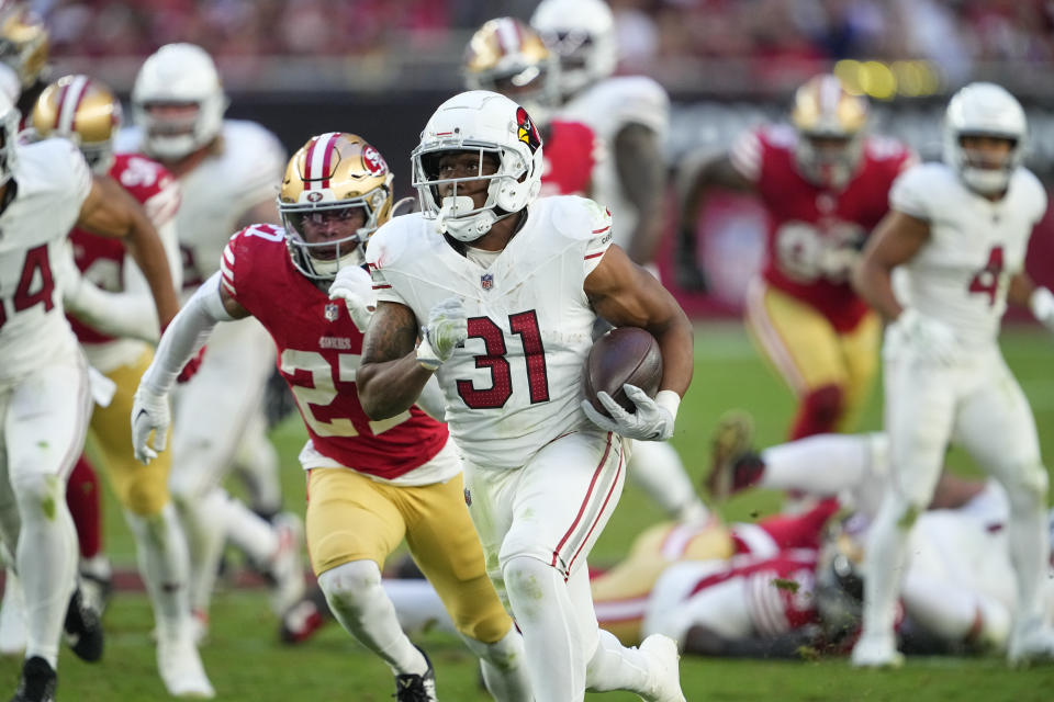
<path id="1" fill-rule="evenodd" d="M 61 302 L 66 235 L 77 226 L 127 238 L 161 324 L 179 302 L 164 245 L 138 203 L 112 180 L 92 178 L 66 139 L 19 144 L 18 123 L 0 97 L 0 533 L 25 600 L 25 663 L 13 698 L 21 702 L 54 699 L 64 621 L 67 631 L 80 623 L 75 653 L 102 655 L 98 622 L 83 626 L 91 622 L 75 589 L 77 535 L 65 500 L 91 412 L 87 363 Z"/>

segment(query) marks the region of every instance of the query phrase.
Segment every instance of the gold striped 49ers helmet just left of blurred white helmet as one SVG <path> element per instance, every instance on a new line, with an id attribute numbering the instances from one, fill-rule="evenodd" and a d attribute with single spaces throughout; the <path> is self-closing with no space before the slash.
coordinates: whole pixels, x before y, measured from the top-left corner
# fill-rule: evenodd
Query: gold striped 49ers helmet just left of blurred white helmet
<path id="1" fill-rule="evenodd" d="M 97 173 L 113 165 L 113 137 L 121 128 L 121 103 L 104 83 L 88 76 L 63 76 L 36 99 L 32 126 L 42 138 L 66 137 Z"/>

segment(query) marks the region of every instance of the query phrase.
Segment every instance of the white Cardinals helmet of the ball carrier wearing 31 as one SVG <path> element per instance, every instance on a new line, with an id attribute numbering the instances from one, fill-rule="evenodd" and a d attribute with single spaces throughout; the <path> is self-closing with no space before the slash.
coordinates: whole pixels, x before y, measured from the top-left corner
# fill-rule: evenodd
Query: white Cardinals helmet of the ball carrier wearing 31
<path id="1" fill-rule="evenodd" d="M 451 151 L 480 154 L 480 173 L 471 178 L 439 178 L 439 159 Z M 494 173 L 483 174 L 483 155 L 497 160 Z M 527 111 L 496 92 L 471 90 L 439 105 L 410 156 L 413 184 L 421 210 L 436 220 L 440 234 L 474 241 L 498 219 L 526 207 L 541 188 L 541 136 Z M 487 180 L 481 207 L 458 196 L 458 183 Z M 448 196 L 439 186 L 453 185 Z"/>

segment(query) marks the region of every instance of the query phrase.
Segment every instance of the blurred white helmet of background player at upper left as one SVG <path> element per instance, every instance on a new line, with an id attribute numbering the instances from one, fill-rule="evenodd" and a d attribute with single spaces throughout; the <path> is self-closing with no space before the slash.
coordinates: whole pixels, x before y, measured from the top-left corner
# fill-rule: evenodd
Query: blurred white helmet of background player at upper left
<path id="1" fill-rule="evenodd" d="M 198 105 L 189 118 L 150 114 L 153 105 Z M 209 144 L 223 127 L 227 97 L 212 57 L 193 44 L 166 44 L 139 69 L 132 87 L 132 116 L 143 127 L 143 150 L 178 160 Z"/>

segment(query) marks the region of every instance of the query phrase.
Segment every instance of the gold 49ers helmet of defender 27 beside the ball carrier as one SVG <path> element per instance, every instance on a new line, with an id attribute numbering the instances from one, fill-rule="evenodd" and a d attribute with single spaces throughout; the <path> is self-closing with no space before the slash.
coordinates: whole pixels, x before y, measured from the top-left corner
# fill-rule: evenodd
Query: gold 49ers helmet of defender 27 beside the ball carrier
<path id="1" fill-rule="evenodd" d="M 332 281 L 346 265 L 361 265 L 369 237 L 392 215 L 392 180 L 380 151 L 362 137 L 329 132 L 312 137 L 289 159 L 278 210 L 293 265 L 307 278 Z M 363 225 L 341 238 L 309 241 L 305 225 L 349 217 Z"/>

